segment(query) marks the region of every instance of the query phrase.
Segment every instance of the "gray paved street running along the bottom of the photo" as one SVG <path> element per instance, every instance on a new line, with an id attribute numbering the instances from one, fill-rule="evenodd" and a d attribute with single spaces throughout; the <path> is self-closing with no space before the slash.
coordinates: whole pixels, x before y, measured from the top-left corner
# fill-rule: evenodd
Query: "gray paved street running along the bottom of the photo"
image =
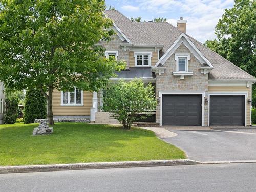
<path id="1" fill-rule="evenodd" d="M 255 191 L 256 164 L 0 174 L 0 191 Z"/>

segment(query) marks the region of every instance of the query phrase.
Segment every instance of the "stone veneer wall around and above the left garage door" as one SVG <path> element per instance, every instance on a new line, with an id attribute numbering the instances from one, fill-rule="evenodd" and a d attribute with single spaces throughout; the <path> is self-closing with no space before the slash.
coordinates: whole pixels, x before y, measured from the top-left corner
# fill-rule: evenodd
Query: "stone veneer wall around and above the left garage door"
<path id="1" fill-rule="evenodd" d="M 192 76 L 185 76 L 180 79 L 180 76 L 174 76 L 176 71 L 175 53 L 189 53 L 190 60 L 188 61 L 188 71 L 193 71 Z M 204 75 L 200 72 L 200 62 L 187 49 L 184 44 L 181 44 L 178 49 L 168 58 L 164 67 L 166 67 L 164 74 L 157 74 L 156 76 L 156 97 L 159 97 L 159 91 L 204 91 L 208 92 L 208 74 Z M 204 99 L 204 98 L 202 98 Z M 156 108 L 156 123 L 160 123 L 160 102 Z M 204 126 L 208 124 L 208 103 L 204 103 Z"/>

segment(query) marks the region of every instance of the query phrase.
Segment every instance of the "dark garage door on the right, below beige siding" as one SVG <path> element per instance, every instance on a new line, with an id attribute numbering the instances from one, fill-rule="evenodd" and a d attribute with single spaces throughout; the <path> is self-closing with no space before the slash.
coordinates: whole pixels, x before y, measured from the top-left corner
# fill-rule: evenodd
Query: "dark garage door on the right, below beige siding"
<path id="1" fill-rule="evenodd" d="M 210 96 L 210 125 L 244 125 L 244 96 Z"/>

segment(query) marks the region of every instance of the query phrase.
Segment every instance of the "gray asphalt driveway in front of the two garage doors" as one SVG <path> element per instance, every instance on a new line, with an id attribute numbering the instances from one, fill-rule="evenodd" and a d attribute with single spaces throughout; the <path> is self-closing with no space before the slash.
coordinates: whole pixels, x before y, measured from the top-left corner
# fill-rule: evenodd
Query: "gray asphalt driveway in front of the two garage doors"
<path id="1" fill-rule="evenodd" d="M 178 134 L 163 138 L 197 161 L 256 160 L 256 129 L 167 130 Z"/>

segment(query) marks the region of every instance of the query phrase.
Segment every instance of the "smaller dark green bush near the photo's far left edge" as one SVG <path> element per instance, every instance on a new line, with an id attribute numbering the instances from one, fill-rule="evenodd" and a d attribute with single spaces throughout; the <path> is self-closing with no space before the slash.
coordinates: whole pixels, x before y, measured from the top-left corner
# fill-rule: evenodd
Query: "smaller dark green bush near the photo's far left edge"
<path id="1" fill-rule="evenodd" d="M 18 117 L 18 98 L 6 98 L 5 99 L 5 124 L 14 124 Z"/>

